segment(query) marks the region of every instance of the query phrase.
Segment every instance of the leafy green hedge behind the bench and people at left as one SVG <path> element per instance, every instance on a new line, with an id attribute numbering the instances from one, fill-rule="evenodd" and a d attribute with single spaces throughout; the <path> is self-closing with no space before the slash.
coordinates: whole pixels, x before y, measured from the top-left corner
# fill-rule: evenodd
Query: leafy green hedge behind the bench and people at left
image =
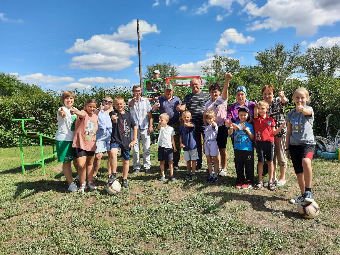
<path id="1" fill-rule="evenodd" d="M 96 98 L 100 103 L 104 97 L 110 96 L 113 99 L 117 96 L 128 101 L 133 95 L 127 88 L 97 88 L 91 90 L 74 90 L 74 106 L 82 109 L 89 98 Z M 57 109 L 62 106 L 61 95 L 56 91 L 38 90 L 34 95 L 13 94 L 12 96 L 0 97 L 0 147 L 19 146 L 19 137 L 15 133 L 22 132 L 21 122 L 12 122 L 12 119 L 35 118 L 37 121 L 25 122 L 25 130 L 28 132 L 41 132 L 50 136 L 55 136 L 57 123 Z M 126 105 L 126 111 L 130 111 Z M 23 139 L 23 145 L 35 144 L 30 139 Z"/>

